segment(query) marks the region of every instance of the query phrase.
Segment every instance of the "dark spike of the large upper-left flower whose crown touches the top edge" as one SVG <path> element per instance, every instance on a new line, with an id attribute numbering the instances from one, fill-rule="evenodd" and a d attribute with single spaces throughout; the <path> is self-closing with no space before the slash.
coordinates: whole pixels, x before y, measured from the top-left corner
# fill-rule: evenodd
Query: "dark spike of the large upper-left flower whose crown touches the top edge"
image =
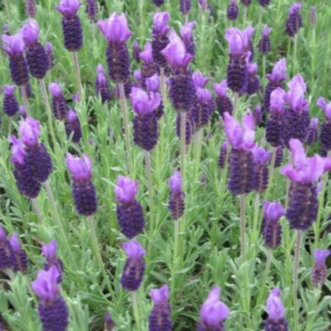
<path id="1" fill-rule="evenodd" d="M 62 18 L 64 46 L 70 52 L 78 52 L 83 46 L 83 31 L 77 15 Z"/>

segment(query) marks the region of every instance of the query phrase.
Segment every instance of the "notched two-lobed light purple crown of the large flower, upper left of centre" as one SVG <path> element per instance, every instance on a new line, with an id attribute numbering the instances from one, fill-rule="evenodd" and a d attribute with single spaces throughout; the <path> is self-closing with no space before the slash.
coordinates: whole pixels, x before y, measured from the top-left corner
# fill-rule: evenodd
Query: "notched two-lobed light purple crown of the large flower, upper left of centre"
<path id="1" fill-rule="evenodd" d="M 154 112 L 159 107 L 161 94 L 159 92 L 147 93 L 139 87 L 132 87 L 130 99 L 135 113 L 147 115 Z"/>

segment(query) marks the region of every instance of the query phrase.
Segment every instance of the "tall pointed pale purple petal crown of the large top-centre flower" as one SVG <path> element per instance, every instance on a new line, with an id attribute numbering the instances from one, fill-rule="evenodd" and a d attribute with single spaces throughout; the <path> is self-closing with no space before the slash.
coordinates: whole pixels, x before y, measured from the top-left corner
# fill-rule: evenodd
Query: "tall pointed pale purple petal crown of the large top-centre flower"
<path id="1" fill-rule="evenodd" d="M 169 44 L 161 51 L 161 54 L 172 69 L 185 70 L 192 60 L 192 55 L 187 53 L 183 41 L 174 30 L 171 31 L 169 40 Z"/>

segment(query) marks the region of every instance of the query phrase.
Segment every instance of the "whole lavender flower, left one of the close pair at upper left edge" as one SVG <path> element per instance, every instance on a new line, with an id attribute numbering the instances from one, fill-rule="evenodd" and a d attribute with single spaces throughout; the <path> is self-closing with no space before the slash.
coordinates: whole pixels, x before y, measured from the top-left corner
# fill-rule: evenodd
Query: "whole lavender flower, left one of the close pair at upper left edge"
<path id="1" fill-rule="evenodd" d="M 18 32 L 12 36 L 3 34 L 1 39 L 5 43 L 2 48 L 9 55 L 10 74 L 14 83 L 17 86 L 26 85 L 29 81 L 29 73 L 23 56 L 24 41 L 22 33 Z"/>

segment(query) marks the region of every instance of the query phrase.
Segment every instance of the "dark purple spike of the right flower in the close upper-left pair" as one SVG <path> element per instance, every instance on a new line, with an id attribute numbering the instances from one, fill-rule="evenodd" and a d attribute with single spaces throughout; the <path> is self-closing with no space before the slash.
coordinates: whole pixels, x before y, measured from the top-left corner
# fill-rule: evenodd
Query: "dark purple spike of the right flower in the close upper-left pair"
<path id="1" fill-rule="evenodd" d="M 43 79 L 48 71 L 48 59 L 44 47 L 37 43 L 33 47 L 25 48 L 26 62 L 30 74 Z"/>

